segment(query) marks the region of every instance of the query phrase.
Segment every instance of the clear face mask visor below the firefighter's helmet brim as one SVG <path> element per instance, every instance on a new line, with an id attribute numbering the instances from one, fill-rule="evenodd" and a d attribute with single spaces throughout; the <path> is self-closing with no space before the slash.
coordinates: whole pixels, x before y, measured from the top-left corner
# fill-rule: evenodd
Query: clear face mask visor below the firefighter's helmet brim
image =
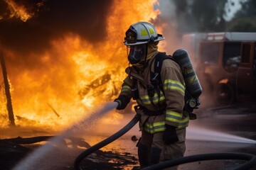
<path id="1" fill-rule="evenodd" d="M 127 45 L 127 55 L 131 64 L 140 62 L 144 57 L 146 57 L 146 44 L 132 46 Z"/>

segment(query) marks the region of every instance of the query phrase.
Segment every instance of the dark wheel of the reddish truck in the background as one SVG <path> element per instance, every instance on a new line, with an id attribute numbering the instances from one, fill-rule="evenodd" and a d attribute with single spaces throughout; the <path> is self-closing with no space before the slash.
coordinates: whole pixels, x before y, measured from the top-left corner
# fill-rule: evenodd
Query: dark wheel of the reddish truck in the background
<path id="1" fill-rule="evenodd" d="M 235 101 L 235 91 L 231 84 L 218 84 L 214 91 L 214 101 L 218 106 L 227 106 Z"/>

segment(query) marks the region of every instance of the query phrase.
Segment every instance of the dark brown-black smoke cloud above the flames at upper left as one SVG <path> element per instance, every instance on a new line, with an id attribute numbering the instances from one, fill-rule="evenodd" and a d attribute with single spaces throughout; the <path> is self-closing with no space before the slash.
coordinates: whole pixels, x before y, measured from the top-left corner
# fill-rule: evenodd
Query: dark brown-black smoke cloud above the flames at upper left
<path id="1" fill-rule="evenodd" d="M 50 40 L 66 33 L 92 43 L 106 37 L 106 18 L 112 1 L 1 1 L 0 43 L 23 54 L 44 52 Z M 29 16 L 27 19 L 24 19 Z"/>

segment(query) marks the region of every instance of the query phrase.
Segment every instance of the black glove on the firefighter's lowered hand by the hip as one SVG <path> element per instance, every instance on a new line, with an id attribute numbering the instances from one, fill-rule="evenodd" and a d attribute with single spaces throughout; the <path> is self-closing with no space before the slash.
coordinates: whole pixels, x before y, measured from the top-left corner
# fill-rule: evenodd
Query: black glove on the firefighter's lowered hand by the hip
<path id="1" fill-rule="evenodd" d="M 171 143 L 178 142 L 178 135 L 176 128 L 172 125 L 166 125 L 166 130 L 164 131 L 164 144 L 170 145 Z"/>

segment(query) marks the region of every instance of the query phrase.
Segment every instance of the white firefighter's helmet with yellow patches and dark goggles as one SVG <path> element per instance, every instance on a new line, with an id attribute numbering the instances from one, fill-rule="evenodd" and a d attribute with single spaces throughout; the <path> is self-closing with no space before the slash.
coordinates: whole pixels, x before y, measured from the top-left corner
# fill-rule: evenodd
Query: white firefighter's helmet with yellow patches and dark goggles
<path id="1" fill-rule="evenodd" d="M 142 45 L 160 40 L 164 40 L 164 36 L 157 34 L 151 23 L 138 22 L 132 24 L 125 33 L 124 45 Z"/>

